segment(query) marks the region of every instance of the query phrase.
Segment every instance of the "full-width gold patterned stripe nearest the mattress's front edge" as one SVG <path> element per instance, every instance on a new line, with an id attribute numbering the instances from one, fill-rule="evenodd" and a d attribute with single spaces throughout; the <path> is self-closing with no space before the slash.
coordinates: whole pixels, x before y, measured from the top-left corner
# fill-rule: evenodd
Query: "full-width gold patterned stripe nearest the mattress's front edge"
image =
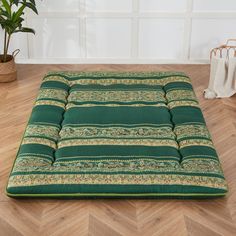
<path id="1" fill-rule="evenodd" d="M 104 185 L 188 185 L 227 189 L 224 179 L 190 175 L 130 175 L 130 174 L 30 174 L 11 176 L 10 187 L 51 185 L 51 184 L 104 184 Z"/>

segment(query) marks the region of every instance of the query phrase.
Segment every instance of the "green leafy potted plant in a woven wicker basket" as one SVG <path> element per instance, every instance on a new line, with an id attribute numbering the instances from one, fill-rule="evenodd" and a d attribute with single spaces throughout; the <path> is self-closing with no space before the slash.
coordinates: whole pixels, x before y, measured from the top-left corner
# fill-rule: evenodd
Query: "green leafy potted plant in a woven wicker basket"
<path id="1" fill-rule="evenodd" d="M 19 49 L 12 55 L 8 54 L 12 35 L 18 32 L 35 33 L 33 29 L 23 27 L 26 9 L 38 14 L 35 0 L 1 0 L 0 2 L 0 25 L 4 33 L 3 50 L 0 54 L 0 82 L 10 82 L 17 77 L 14 57 Z"/>

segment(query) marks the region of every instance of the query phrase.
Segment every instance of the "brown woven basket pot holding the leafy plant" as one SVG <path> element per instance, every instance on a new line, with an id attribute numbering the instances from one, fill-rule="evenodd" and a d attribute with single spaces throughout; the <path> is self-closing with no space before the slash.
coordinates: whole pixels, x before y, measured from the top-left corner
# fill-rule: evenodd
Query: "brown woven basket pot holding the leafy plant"
<path id="1" fill-rule="evenodd" d="M 7 62 L 2 62 L 3 55 L 0 55 L 0 83 L 16 80 L 16 64 L 14 55 L 7 55 Z"/>

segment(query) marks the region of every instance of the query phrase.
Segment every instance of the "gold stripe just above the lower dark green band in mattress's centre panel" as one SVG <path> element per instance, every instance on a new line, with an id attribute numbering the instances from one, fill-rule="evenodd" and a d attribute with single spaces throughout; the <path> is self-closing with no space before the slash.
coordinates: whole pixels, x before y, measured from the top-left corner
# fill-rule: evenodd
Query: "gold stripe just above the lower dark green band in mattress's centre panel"
<path id="1" fill-rule="evenodd" d="M 85 145 L 143 145 L 178 148 L 175 140 L 156 139 L 70 139 L 58 142 L 58 148 Z"/>

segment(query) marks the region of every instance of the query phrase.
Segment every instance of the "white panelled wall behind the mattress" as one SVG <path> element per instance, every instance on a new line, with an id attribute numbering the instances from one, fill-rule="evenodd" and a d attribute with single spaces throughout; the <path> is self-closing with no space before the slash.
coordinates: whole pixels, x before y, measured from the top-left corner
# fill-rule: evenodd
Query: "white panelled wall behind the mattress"
<path id="1" fill-rule="evenodd" d="M 18 62 L 195 63 L 236 38 L 235 0 L 37 0 Z M 20 37 L 18 37 L 20 36 Z"/>

